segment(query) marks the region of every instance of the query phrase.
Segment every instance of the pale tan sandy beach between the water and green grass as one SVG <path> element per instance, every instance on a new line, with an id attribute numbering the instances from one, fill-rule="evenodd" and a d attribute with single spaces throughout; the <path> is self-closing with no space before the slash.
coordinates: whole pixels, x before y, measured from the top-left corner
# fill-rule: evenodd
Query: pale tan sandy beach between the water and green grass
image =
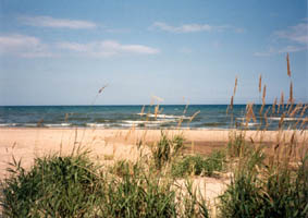
<path id="1" fill-rule="evenodd" d="M 227 143 L 231 131 L 227 130 L 168 130 L 170 137 L 181 134 L 186 145 L 194 153 L 208 154 L 221 148 Z M 284 131 L 287 141 L 293 131 Z M 278 131 L 246 131 L 246 140 L 254 142 L 274 143 Z M 298 142 L 307 138 L 307 131 L 296 132 Z M 35 157 L 48 154 L 70 154 L 74 147 L 91 150 L 91 157 L 101 160 L 106 156 L 114 159 L 137 158 L 136 145 L 157 142 L 161 136 L 160 130 L 102 130 L 102 129 L 0 129 L 0 178 L 5 174 L 8 162 L 22 159 L 23 166 L 30 166 Z M 189 149 L 189 148 L 188 148 Z"/>

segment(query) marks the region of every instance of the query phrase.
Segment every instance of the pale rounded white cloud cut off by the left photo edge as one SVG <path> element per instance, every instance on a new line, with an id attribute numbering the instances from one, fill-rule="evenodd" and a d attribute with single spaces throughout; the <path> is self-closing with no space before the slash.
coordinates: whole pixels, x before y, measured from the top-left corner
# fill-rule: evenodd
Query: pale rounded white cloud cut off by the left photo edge
<path id="1" fill-rule="evenodd" d="M 23 58 L 52 57 L 48 46 L 38 38 L 25 35 L 0 36 L 0 55 L 13 55 Z"/>

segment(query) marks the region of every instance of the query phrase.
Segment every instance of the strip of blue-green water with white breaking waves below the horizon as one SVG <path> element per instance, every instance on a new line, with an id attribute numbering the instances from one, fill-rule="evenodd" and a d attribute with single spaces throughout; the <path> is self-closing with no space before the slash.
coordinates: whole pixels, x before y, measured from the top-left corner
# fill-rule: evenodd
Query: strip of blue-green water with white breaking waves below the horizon
<path id="1" fill-rule="evenodd" d="M 155 106 L 145 106 L 144 113 L 141 113 L 143 106 L 3 106 L 0 107 L 0 128 L 241 129 L 245 126 L 254 130 L 264 126 L 264 121 L 257 116 L 260 106 L 255 106 L 257 120 L 250 120 L 247 122 L 248 125 L 245 121 L 245 105 L 234 106 L 230 113 L 226 113 L 226 105 L 190 105 L 186 111 L 185 107 L 184 105 L 160 106 L 156 114 Z M 263 111 L 269 107 L 271 106 L 266 106 Z M 307 118 L 307 112 L 304 116 L 299 112 L 293 118 L 286 116 L 284 128 L 299 128 L 300 121 Z M 281 112 L 269 113 L 269 130 L 278 129 L 280 116 Z"/>

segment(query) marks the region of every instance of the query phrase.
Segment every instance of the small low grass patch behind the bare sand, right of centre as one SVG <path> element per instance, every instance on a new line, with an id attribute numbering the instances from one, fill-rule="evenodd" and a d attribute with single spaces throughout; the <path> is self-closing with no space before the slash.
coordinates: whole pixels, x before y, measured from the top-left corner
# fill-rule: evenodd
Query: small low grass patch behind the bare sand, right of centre
<path id="1" fill-rule="evenodd" d="M 171 174 L 173 177 L 185 175 L 213 175 L 214 171 L 222 171 L 225 164 L 225 153 L 213 152 L 209 157 L 200 155 L 184 156 L 172 165 Z"/>

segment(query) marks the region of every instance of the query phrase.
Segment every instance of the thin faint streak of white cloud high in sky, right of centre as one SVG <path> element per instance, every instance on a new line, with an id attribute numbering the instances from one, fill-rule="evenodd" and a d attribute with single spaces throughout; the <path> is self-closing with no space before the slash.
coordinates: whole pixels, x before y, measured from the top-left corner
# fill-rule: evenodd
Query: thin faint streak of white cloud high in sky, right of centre
<path id="1" fill-rule="evenodd" d="M 163 22 L 155 22 L 151 27 L 158 28 L 161 31 L 170 32 L 170 33 L 177 33 L 177 34 L 185 34 L 185 33 L 197 33 L 197 32 L 222 32 L 225 29 L 233 29 L 235 33 L 243 33 L 243 28 L 237 28 L 231 25 L 221 25 L 221 26 L 212 26 L 209 24 L 183 24 L 181 26 L 172 26 Z"/>

